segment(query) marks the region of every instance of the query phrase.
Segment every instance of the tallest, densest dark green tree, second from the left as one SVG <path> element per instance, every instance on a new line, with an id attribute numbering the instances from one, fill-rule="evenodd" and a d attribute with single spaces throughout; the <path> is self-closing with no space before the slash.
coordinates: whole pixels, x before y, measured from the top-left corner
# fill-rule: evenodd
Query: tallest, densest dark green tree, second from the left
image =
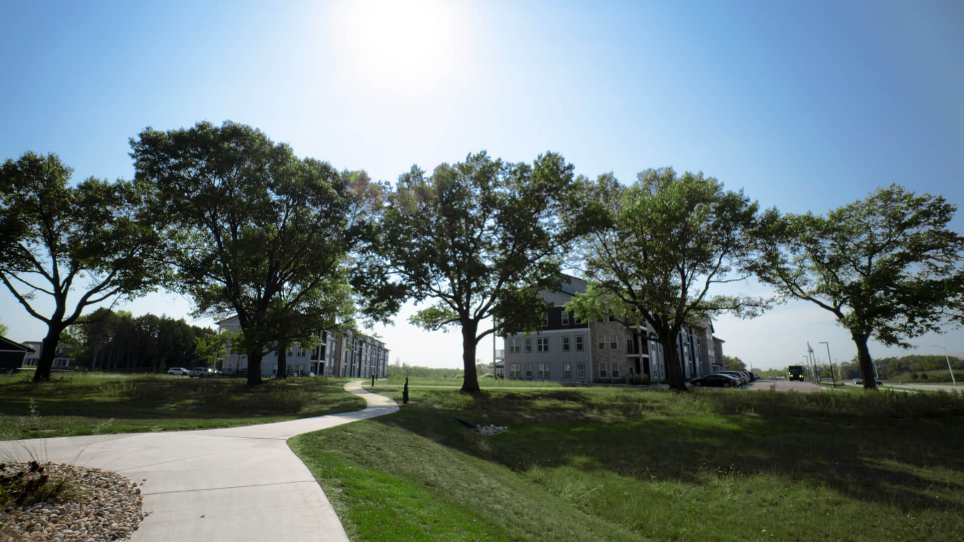
<path id="1" fill-rule="evenodd" d="M 137 178 L 157 185 L 180 228 L 178 288 L 199 314 L 237 315 L 235 348 L 247 352 L 248 383 L 259 384 L 262 356 L 284 335 L 279 322 L 306 299 L 341 292 L 377 187 L 229 121 L 147 128 L 130 143 Z M 352 316 L 312 314 L 321 315 L 314 328 Z"/>

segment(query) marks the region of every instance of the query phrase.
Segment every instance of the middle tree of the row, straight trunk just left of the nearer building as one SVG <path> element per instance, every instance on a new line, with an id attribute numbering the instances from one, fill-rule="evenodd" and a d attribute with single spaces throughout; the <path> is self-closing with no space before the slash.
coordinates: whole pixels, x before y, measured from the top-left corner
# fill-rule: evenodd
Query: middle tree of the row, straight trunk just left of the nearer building
<path id="1" fill-rule="evenodd" d="M 539 291 L 556 285 L 575 233 L 563 218 L 576 185 L 572 165 L 554 153 L 529 165 L 481 152 L 431 176 L 414 167 L 399 177 L 383 208 L 381 265 L 396 279 L 393 294 L 436 301 L 412 323 L 461 329 L 462 391 L 479 389 L 480 340 L 539 324 Z M 484 328 L 491 317 L 496 324 Z"/>

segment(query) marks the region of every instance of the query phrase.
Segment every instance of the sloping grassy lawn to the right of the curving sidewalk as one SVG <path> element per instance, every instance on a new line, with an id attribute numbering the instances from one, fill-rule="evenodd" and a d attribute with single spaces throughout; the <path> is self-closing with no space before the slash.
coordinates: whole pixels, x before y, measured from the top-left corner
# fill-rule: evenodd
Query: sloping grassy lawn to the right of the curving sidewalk
<path id="1" fill-rule="evenodd" d="M 289 444 L 352 540 L 930 542 L 964 532 L 962 422 L 951 394 L 416 388 Z"/>

